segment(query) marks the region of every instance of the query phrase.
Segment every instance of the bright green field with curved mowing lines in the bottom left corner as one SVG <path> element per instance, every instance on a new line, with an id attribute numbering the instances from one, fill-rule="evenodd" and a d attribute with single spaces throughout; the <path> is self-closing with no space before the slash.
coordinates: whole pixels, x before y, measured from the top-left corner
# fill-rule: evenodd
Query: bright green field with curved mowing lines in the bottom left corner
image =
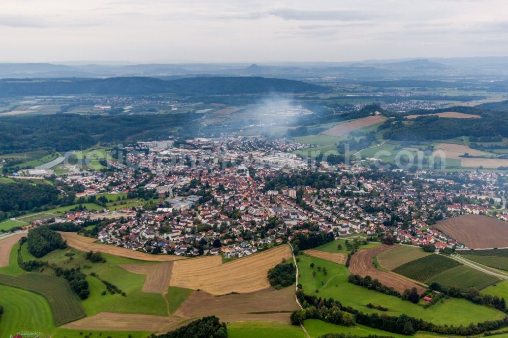
<path id="1" fill-rule="evenodd" d="M 22 331 L 37 331 L 49 336 L 54 329 L 48 301 L 41 295 L 16 287 L 0 285 L 4 314 L 0 336 L 9 337 Z"/>

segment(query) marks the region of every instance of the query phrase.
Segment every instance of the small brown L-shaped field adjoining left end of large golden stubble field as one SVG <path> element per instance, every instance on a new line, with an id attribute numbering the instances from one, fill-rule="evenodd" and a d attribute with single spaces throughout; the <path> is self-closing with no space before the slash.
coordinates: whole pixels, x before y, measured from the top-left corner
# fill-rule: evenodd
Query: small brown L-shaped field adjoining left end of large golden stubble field
<path id="1" fill-rule="evenodd" d="M 161 264 L 120 264 L 125 270 L 146 275 L 143 284 L 143 292 L 168 293 L 169 281 L 171 280 L 171 272 L 173 271 L 173 262 Z"/>

